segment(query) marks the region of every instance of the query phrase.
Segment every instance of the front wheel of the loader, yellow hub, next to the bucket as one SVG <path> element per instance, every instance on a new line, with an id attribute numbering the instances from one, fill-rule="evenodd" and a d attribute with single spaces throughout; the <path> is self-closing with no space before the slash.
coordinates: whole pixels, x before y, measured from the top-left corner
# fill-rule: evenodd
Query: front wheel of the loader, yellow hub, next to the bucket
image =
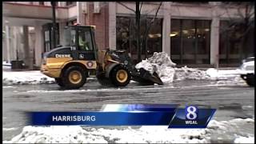
<path id="1" fill-rule="evenodd" d="M 110 80 L 114 86 L 126 86 L 130 83 L 130 72 L 124 66 L 116 66 L 111 70 Z"/>

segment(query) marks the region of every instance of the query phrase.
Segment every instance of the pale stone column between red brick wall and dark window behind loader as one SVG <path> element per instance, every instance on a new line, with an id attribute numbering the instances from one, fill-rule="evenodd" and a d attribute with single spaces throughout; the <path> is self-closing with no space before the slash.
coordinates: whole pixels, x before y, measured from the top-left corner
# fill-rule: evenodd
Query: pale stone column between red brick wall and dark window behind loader
<path id="1" fill-rule="evenodd" d="M 109 47 L 116 50 L 116 2 L 109 2 Z"/>

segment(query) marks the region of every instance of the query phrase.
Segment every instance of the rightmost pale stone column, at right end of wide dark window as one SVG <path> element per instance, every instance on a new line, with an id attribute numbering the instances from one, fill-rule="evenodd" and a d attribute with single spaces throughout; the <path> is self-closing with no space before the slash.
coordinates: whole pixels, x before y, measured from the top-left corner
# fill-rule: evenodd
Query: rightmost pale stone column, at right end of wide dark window
<path id="1" fill-rule="evenodd" d="M 218 68 L 218 46 L 219 46 L 219 14 L 218 14 L 218 2 L 212 2 L 213 5 L 213 17 L 210 26 L 210 64 Z"/>

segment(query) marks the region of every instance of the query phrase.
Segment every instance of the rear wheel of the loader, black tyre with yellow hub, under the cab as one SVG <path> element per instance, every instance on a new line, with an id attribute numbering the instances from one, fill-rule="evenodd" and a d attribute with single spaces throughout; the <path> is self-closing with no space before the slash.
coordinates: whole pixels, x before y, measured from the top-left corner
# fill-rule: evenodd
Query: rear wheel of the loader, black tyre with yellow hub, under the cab
<path id="1" fill-rule="evenodd" d="M 86 72 L 80 66 L 70 66 L 63 72 L 62 82 L 66 89 L 79 89 L 86 83 Z"/>

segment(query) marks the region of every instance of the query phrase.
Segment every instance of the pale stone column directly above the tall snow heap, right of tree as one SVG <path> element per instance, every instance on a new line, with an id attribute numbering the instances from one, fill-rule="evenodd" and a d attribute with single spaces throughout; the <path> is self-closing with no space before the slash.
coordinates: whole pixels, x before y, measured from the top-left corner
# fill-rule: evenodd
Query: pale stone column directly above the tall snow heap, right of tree
<path id="1" fill-rule="evenodd" d="M 170 56 L 170 2 L 163 2 L 162 51 Z"/>

